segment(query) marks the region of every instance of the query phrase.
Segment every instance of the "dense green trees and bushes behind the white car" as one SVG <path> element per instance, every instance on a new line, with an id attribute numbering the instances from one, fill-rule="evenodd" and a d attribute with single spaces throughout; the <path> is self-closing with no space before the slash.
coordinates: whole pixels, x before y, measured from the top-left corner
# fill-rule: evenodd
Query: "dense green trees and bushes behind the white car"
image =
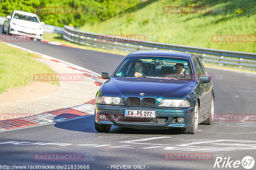
<path id="1" fill-rule="evenodd" d="M 0 16 L 4 17 L 13 10 L 34 13 L 35 7 L 83 7 L 83 12 L 77 14 L 38 14 L 45 24 L 79 27 L 113 17 L 139 4 L 139 0 L 2 0 L 0 3 Z"/>

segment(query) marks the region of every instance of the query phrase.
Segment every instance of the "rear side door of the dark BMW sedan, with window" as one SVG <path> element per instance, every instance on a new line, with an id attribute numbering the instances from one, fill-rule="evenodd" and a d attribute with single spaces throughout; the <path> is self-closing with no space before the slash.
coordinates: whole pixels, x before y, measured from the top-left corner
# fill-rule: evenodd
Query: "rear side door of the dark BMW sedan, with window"
<path id="1" fill-rule="evenodd" d="M 196 61 L 197 61 L 198 65 L 199 65 L 199 68 L 200 68 L 200 70 L 201 70 L 203 76 L 208 76 L 208 74 L 207 74 L 207 72 L 206 72 L 206 70 L 205 70 L 205 68 L 204 68 L 204 65 L 203 65 L 202 61 L 201 61 L 199 58 L 197 58 L 197 57 L 196 57 Z M 206 103 L 206 105 L 205 105 L 205 107 L 207 108 L 207 111 L 206 111 L 206 113 L 207 113 L 207 112 L 209 111 L 209 109 L 210 109 L 210 106 L 211 106 L 211 99 L 212 99 L 212 81 L 209 82 L 209 83 L 204 83 L 204 84 L 207 86 L 207 89 L 206 89 L 207 103 Z"/>

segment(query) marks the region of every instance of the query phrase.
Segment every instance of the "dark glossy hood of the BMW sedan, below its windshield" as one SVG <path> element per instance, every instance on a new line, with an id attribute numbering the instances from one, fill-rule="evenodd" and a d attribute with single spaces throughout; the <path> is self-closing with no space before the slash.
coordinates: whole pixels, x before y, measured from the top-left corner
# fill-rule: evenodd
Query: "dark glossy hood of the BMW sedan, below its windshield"
<path id="1" fill-rule="evenodd" d="M 101 89 L 103 96 L 155 97 L 156 99 L 182 99 L 196 83 L 194 81 L 155 78 L 111 78 Z M 140 96 L 144 93 L 144 96 Z"/>

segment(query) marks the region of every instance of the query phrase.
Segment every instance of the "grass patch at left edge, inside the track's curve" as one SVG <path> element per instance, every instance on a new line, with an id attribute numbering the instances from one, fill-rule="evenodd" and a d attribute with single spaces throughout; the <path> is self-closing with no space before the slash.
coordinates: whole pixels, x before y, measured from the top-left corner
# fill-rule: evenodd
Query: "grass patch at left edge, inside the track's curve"
<path id="1" fill-rule="evenodd" d="M 33 59 L 40 58 L 36 54 L 4 43 L 0 43 L 0 54 L 0 93 L 32 82 L 34 74 L 55 74 L 46 64 Z M 50 83 L 59 84 L 58 81 Z"/>

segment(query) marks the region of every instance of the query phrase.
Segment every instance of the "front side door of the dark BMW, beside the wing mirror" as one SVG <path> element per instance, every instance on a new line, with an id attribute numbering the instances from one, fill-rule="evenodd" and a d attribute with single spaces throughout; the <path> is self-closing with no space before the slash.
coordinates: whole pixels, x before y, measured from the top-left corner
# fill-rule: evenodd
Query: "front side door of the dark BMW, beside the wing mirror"
<path id="1" fill-rule="evenodd" d="M 207 100 L 207 84 L 206 83 L 199 83 L 199 77 L 200 76 L 203 76 L 202 74 L 202 71 L 196 61 L 196 58 L 197 57 L 193 57 L 192 60 L 193 60 L 193 64 L 194 64 L 194 67 L 195 67 L 195 71 L 196 71 L 196 79 L 198 81 L 198 88 L 197 88 L 197 94 L 198 94 L 198 97 L 200 99 L 200 110 L 199 110 L 199 117 L 205 115 L 207 113 L 207 108 L 205 107 L 206 106 L 206 103 L 208 102 Z"/>

